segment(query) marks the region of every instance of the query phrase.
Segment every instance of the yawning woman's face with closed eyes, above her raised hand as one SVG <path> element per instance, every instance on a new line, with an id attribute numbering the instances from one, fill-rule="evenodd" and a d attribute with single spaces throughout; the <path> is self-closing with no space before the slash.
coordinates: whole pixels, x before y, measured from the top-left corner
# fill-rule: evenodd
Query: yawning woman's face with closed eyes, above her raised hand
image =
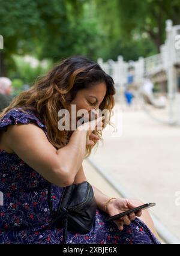
<path id="1" fill-rule="evenodd" d="M 71 114 L 71 106 L 76 105 L 76 111 L 79 111 L 80 109 L 85 109 L 86 111 L 88 111 L 88 118 L 90 120 L 91 110 L 94 109 L 96 111 L 99 109 L 99 106 L 101 105 L 101 102 L 103 102 L 105 95 L 106 84 L 104 82 L 100 82 L 97 85 L 93 85 L 89 89 L 80 90 L 77 92 L 76 97 L 68 106 L 68 111 L 70 111 Z M 76 117 L 76 121 L 79 120 L 79 118 L 80 117 Z"/>

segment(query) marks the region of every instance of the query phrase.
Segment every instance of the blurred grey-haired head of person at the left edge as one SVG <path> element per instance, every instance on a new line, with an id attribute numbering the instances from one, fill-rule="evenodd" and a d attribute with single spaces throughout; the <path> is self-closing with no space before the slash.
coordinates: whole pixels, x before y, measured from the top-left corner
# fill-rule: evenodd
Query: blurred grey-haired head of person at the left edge
<path id="1" fill-rule="evenodd" d="M 9 78 L 0 78 L 0 112 L 6 108 L 13 100 L 11 92 L 13 91 L 12 82 Z"/>

